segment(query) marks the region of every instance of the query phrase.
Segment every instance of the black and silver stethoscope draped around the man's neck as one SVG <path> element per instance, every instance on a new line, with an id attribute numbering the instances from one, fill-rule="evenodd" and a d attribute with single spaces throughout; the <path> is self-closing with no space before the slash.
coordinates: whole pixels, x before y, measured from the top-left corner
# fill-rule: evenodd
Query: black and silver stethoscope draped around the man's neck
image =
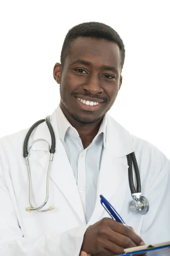
<path id="1" fill-rule="evenodd" d="M 49 158 L 49 164 L 48 164 L 48 171 L 47 171 L 47 179 L 46 179 L 46 197 L 45 201 L 39 206 L 39 207 L 34 207 L 31 201 L 31 172 L 29 168 L 29 162 L 28 162 L 28 140 L 31 136 L 31 133 L 34 131 L 34 129 L 40 125 L 42 122 L 46 122 L 48 129 L 51 134 L 51 148 L 50 148 L 50 158 Z M 34 125 L 31 126 L 31 128 L 28 130 L 28 133 L 26 134 L 26 138 L 24 140 L 24 145 L 23 145 L 23 156 L 26 159 L 26 166 L 28 170 L 28 177 L 29 177 L 29 204 L 30 207 L 26 207 L 26 212 L 31 212 L 31 211 L 39 211 L 39 212 L 47 212 L 50 210 L 53 210 L 55 207 L 51 206 L 48 207 L 47 209 L 42 209 L 45 204 L 48 202 L 49 198 L 49 175 L 50 175 L 50 169 L 51 169 L 51 162 L 53 160 L 53 155 L 55 153 L 55 148 L 56 148 L 56 140 L 55 140 L 55 134 L 54 130 L 52 128 L 52 125 L 50 123 L 50 116 L 47 116 L 45 119 L 41 119 L 37 122 L 34 123 Z M 132 212 L 139 212 L 140 214 L 147 214 L 149 211 L 149 202 L 146 197 L 141 195 L 141 180 L 140 180 L 140 175 L 139 175 L 139 168 L 138 164 L 136 161 L 136 157 L 134 152 L 128 154 L 127 156 L 127 164 L 129 166 L 128 168 L 128 179 L 129 179 L 129 186 L 130 186 L 130 191 L 133 200 L 130 201 L 130 210 Z M 136 174 L 136 189 L 134 187 L 133 183 L 133 169 L 132 169 L 132 163 L 134 166 L 135 174 Z"/>

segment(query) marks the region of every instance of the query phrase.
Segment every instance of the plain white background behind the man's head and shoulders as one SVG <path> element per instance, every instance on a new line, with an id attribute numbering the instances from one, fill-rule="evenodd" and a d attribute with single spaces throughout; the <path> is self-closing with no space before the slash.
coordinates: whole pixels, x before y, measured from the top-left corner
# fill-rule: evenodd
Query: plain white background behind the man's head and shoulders
<path id="1" fill-rule="evenodd" d="M 122 37 L 123 84 L 110 111 L 170 158 L 169 0 L 0 2 L 0 137 L 31 126 L 59 103 L 53 67 L 68 29 L 99 21 Z"/>

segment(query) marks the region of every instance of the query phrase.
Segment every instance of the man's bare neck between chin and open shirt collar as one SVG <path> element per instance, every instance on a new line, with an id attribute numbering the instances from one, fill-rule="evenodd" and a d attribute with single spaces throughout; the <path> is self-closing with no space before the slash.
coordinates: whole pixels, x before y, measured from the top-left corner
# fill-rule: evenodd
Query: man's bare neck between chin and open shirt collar
<path id="1" fill-rule="evenodd" d="M 83 147 L 87 148 L 88 145 L 92 143 L 94 137 L 98 133 L 103 117 L 97 122 L 84 124 L 75 120 L 67 110 L 65 111 L 65 109 L 62 109 L 61 105 L 60 108 L 65 114 L 65 117 L 68 119 L 68 122 L 70 122 L 70 124 L 77 130 L 79 137 L 82 140 Z"/>

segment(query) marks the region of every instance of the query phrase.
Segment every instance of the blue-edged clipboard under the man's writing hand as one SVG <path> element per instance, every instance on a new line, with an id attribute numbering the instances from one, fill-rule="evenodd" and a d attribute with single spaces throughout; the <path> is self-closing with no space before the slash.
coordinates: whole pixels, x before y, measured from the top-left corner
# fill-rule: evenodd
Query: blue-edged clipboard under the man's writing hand
<path id="1" fill-rule="evenodd" d="M 119 256 L 170 256 L 170 241 L 127 248 Z"/>

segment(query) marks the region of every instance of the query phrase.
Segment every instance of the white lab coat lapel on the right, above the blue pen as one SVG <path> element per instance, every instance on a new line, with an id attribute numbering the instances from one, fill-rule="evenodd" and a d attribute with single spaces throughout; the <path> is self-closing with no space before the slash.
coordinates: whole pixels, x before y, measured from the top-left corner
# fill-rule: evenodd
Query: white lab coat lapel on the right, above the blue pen
<path id="1" fill-rule="evenodd" d="M 119 198 L 119 187 L 127 177 L 128 172 L 128 165 L 124 156 L 134 150 L 130 134 L 108 116 L 106 145 L 98 178 L 96 206 L 89 224 L 99 219 L 102 212 L 105 211 L 100 203 L 100 195 L 103 195 L 108 201 L 115 195 Z"/>

